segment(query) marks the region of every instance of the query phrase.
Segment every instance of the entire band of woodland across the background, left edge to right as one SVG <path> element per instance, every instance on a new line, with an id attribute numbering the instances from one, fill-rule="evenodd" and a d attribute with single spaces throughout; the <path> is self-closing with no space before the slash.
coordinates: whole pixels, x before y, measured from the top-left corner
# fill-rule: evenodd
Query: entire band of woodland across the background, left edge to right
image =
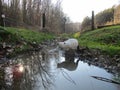
<path id="1" fill-rule="evenodd" d="M 41 31 L 42 15 L 45 14 L 47 32 L 60 34 L 91 30 L 91 17 L 85 16 L 81 23 L 72 23 L 64 14 L 61 3 L 61 0 L 56 0 L 55 3 L 52 3 L 52 0 L 0 0 L 0 14 L 5 14 L 5 26 Z M 2 19 L 0 18 L 0 21 Z M 120 24 L 120 5 L 97 13 L 94 24 L 95 28 Z"/>

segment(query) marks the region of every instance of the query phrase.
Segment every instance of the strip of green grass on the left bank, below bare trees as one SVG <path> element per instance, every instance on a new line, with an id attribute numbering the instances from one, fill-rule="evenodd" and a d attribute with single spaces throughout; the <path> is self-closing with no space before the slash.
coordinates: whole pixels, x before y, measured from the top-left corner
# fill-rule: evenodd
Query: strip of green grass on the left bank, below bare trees
<path id="1" fill-rule="evenodd" d="M 46 34 L 42 32 L 36 32 L 32 30 L 26 30 L 26 29 L 17 29 L 17 28 L 6 28 L 6 30 L 11 33 L 11 37 L 13 40 L 17 37 L 18 39 L 24 39 L 27 42 L 36 42 L 41 43 L 45 40 L 50 40 L 54 38 L 54 35 L 52 34 Z"/>

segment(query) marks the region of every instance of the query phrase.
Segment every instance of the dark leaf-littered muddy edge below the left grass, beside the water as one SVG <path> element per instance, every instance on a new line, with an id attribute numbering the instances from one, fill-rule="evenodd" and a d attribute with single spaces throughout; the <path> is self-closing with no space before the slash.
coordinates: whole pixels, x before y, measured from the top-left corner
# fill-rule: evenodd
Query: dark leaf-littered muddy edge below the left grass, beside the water
<path id="1" fill-rule="evenodd" d="M 42 48 L 49 46 L 55 47 L 56 44 L 57 41 L 55 39 L 46 40 L 40 44 L 36 42 L 30 43 L 26 41 L 17 42 L 16 44 L 2 42 L 0 43 L 0 60 L 2 58 L 11 58 L 18 54 L 27 53 L 29 51 L 39 51 Z"/>

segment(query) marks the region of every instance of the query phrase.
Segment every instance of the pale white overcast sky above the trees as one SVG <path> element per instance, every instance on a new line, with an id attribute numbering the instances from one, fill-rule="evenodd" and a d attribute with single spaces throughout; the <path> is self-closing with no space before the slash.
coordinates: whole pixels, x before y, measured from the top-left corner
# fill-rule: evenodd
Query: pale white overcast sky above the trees
<path id="1" fill-rule="evenodd" d="M 119 4 L 120 0 L 62 0 L 63 12 L 70 17 L 73 22 L 82 22 L 84 17 L 91 17 L 91 12 L 95 14 L 105 9 Z"/>

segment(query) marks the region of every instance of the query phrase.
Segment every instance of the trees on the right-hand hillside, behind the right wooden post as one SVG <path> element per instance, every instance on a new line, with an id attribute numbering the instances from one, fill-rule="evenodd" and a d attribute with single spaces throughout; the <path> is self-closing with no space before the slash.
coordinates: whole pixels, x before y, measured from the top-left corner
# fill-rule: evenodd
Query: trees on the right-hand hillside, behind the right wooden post
<path id="1" fill-rule="evenodd" d="M 86 16 L 82 23 L 82 30 L 91 30 L 92 18 Z M 95 28 L 106 25 L 120 24 L 120 5 L 105 9 L 94 16 Z"/>

